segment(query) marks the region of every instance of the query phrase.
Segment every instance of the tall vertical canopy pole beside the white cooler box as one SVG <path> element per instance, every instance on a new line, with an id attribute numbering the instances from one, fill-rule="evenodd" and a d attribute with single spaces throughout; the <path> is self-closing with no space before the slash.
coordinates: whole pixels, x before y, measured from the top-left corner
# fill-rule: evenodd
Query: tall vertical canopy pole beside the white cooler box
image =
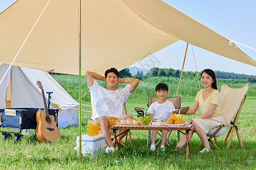
<path id="1" fill-rule="evenodd" d="M 81 0 L 79 0 L 79 162 L 82 163 L 82 75 L 81 75 Z"/>

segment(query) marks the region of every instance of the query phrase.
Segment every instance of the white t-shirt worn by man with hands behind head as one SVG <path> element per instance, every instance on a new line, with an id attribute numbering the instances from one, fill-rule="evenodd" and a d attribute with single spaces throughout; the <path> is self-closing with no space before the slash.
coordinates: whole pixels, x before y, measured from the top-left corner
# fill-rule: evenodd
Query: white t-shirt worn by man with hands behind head
<path id="1" fill-rule="evenodd" d="M 123 103 L 131 95 L 129 92 L 130 84 L 117 90 L 106 90 L 94 79 L 93 86 L 89 87 L 89 90 L 95 102 L 92 118 L 101 116 L 123 117 Z"/>

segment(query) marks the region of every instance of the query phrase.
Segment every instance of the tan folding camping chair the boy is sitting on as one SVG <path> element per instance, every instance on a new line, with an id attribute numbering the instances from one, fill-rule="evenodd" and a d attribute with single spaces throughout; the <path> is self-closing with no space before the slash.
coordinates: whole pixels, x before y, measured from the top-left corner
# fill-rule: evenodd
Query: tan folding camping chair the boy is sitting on
<path id="1" fill-rule="evenodd" d="M 176 109 L 179 109 L 179 108 L 180 108 L 180 97 L 178 97 L 178 96 L 176 96 L 176 97 L 168 97 L 168 98 L 166 98 L 166 99 L 169 100 L 169 101 L 171 101 L 171 103 L 174 104 L 174 107 L 175 107 Z M 154 103 L 156 100 L 158 100 L 158 97 L 152 97 L 152 96 L 148 97 L 148 107 L 150 107 L 150 105 L 151 105 L 152 103 Z M 169 140 L 169 137 L 170 137 L 171 132 L 172 132 L 172 131 L 169 131 L 168 137 L 167 137 L 167 139 L 166 139 L 166 143 L 167 143 L 168 146 L 170 146 L 168 142 L 172 143 L 172 142 Z M 162 131 L 161 131 L 161 133 L 162 133 Z M 162 134 L 160 134 L 159 131 L 158 131 L 158 134 L 160 135 L 160 139 L 159 139 L 158 142 L 156 142 L 156 145 L 158 145 L 158 143 L 162 140 Z M 177 131 L 177 139 L 178 139 L 178 138 L 179 138 L 179 131 Z M 148 145 L 151 145 L 151 130 L 148 130 L 147 146 L 148 146 Z"/>

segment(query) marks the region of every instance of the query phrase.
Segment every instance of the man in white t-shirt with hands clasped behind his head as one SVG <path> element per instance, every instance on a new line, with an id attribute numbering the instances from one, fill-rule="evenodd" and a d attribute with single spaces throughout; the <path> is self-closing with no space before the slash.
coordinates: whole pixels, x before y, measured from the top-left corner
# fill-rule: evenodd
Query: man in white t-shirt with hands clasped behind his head
<path id="1" fill-rule="evenodd" d="M 125 118 L 133 119 L 133 116 L 129 114 L 123 116 L 123 103 L 137 88 L 139 80 L 134 78 L 119 79 L 119 73 L 115 68 L 106 70 L 105 77 L 90 71 L 87 71 L 85 76 L 96 106 L 92 118 L 98 118 L 98 125 L 101 128 L 101 133 L 105 135 L 105 142 L 108 145 L 106 152 L 114 152 L 109 132 L 110 126 L 113 125 L 114 121 Z M 96 80 L 104 81 L 107 88 L 101 87 Z M 119 83 L 126 83 L 127 85 L 122 89 L 115 90 Z M 120 139 L 124 135 L 121 135 Z"/>

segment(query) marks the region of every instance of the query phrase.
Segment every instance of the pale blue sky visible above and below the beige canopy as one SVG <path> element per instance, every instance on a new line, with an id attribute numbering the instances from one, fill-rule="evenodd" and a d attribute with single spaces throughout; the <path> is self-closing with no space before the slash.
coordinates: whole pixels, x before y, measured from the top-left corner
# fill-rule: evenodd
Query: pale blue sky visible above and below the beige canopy
<path id="1" fill-rule="evenodd" d="M 15 0 L 0 0 L 0 12 L 9 7 Z M 238 0 L 165 0 L 164 2 L 197 20 L 218 34 L 243 45 L 256 49 L 256 1 Z M 187 42 L 177 41 L 144 59 L 156 59 L 156 65 L 144 67 L 140 61 L 131 65 L 150 70 L 151 67 L 172 68 L 181 70 Z M 256 61 L 256 51 L 237 45 L 245 54 Z M 194 60 L 195 56 L 195 60 Z M 195 65 L 196 61 L 196 65 Z M 239 74 L 256 75 L 256 67 L 219 56 L 207 50 L 188 46 L 184 71 L 202 71 L 206 68 Z"/>

